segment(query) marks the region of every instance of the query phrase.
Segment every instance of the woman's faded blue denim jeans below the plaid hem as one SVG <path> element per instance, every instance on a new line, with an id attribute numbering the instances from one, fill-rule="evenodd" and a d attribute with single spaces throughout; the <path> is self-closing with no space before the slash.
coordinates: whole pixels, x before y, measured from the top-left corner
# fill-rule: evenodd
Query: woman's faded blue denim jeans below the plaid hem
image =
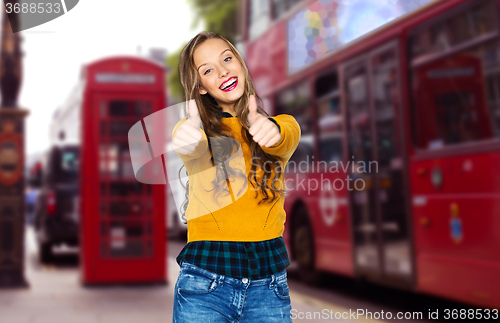
<path id="1" fill-rule="evenodd" d="M 181 262 L 175 283 L 175 323 L 290 323 L 287 272 L 236 279 Z"/>

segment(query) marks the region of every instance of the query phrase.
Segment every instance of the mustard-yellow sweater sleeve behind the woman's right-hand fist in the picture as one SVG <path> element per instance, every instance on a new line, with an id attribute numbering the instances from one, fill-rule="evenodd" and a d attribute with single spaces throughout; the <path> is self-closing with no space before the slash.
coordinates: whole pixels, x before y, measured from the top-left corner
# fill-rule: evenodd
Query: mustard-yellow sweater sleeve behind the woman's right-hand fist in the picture
<path id="1" fill-rule="evenodd" d="M 302 134 L 300 125 L 293 116 L 288 114 L 280 114 L 273 119 L 280 129 L 281 140 L 271 147 L 261 146 L 261 148 L 269 155 L 279 156 L 288 161 L 299 145 Z"/>

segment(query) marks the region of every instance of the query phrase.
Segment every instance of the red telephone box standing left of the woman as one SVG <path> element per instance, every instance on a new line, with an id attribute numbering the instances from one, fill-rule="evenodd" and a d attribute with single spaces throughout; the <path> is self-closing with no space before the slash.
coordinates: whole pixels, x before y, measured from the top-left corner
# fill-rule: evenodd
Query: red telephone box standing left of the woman
<path id="1" fill-rule="evenodd" d="M 113 57 L 86 65 L 82 79 L 81 281 L 166 283 L 166 186 L 137 180 L 128 142 L 134 124 L 166 106 L 164 68 Z"/>

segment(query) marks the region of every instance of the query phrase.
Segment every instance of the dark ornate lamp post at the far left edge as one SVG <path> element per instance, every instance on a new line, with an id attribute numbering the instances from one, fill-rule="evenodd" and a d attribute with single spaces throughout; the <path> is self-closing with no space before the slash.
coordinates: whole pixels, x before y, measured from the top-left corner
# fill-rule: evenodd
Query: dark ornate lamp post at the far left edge
<path id="1" fill-rule="evenodd" d="M 12 2 L 18 2 L 12 1 Z M 24 278 L 24 119 L 19 15 L 3 11 L 0 39 L 0 288 L 28 287 Z"/>

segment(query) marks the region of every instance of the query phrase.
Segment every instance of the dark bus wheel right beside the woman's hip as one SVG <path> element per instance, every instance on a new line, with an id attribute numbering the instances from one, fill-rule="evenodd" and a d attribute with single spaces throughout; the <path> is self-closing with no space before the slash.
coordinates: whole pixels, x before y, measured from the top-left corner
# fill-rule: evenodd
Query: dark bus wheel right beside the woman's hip
<path id="1" fill-rule="evenodd" d="M 299 265 L 301 279 L 310 285 L 321 281 L 321 274 L 314 268 L 314 238 L 305 207 L 300 207 L 293 234 L 295 260 Z"/>

